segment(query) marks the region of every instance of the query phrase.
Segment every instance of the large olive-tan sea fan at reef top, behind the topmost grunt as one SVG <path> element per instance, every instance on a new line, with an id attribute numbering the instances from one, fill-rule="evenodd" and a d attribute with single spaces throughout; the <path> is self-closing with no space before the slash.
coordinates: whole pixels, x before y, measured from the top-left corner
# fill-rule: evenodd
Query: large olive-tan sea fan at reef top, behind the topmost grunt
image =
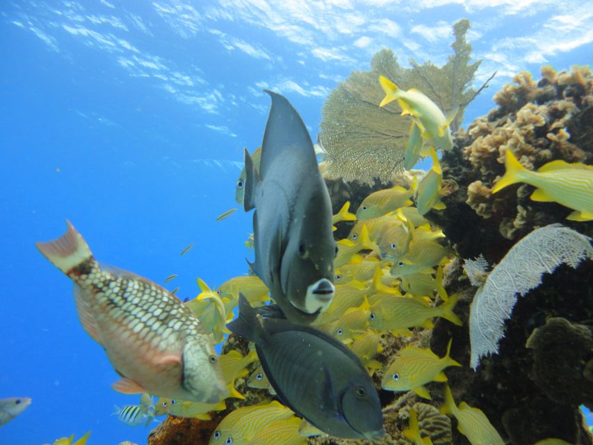
<path id="1" fill-rule="evenodd" d="M 327 154 L 324 176 L 330 179 L 373 184 L 387 183 L 403 170 L 403 155 L 412 120 L 401 115 L 397 102 L 379 108 L 384 92 L 379 76 L 387 76 L 399 88 L 418 88 L 443 111 L 460 106 L 451 129 L 462 122 L 465 106 L 475 97 L 471 88 L 480 65 L 470 63 L 471 45 L 465 40 L 469 20 L 453 26 L 454 54 L 437 67 L 426 61 L 411 68 L 402 67 L 390 49 L 382 49 L 371 60 L 371 71 L 355 71 L 339 84 L 323 105 L 320 138 Z"/>

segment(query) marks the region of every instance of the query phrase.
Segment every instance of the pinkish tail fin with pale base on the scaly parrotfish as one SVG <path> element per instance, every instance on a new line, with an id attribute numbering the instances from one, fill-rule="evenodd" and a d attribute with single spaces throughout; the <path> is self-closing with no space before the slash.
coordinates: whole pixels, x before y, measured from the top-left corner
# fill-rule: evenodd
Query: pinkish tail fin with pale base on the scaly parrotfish
<path id="1" fill-rule="evenodd" d="M 47 243 L 35 243 L 44 257 L 58 269 L 67 274 L 72 268 L 92 259 L 92 253 L 86 241 L 76 232 L 70 221 L 66 220 L 68 230 L 63 236 Z"/>

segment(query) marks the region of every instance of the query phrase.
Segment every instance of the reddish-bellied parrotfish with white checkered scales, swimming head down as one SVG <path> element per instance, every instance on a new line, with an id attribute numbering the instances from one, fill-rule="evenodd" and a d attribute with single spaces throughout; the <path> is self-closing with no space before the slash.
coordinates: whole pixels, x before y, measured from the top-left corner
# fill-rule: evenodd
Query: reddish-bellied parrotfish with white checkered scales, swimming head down
<path id="1" fill-rule="evenodd" d="M 110 270 L 67 222 L 65 235 L 37 247 L 75 284 L 80 321 L 103 346 L 124 394 L 214 403 L 227 394 L 211 334 L 166 289 L 124 270 Z"/>

